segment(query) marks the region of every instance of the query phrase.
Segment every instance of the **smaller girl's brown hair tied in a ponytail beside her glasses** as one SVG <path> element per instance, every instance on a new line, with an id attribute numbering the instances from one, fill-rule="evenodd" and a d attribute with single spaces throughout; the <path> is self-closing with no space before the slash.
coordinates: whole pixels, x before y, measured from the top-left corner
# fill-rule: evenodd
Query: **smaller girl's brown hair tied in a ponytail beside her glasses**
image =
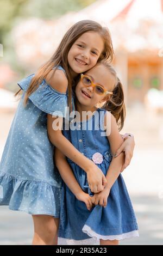
<path id="1" fill-rule="evenodd" d="M 116 83 L 112 95 L 109 96 L 108 100 L 103 105 L 103 108 L 110 111 L 116 119 L 118 130 L 121 131 L 126 118 L 126 107 L 124 104 L 124 93 L 123 86 L 120 79 L 117 77 L 115 69 L 110 65 L 109 62 L 102 60 L 99 65 L 104 65 L 111 74 L 115 77 Z"/>

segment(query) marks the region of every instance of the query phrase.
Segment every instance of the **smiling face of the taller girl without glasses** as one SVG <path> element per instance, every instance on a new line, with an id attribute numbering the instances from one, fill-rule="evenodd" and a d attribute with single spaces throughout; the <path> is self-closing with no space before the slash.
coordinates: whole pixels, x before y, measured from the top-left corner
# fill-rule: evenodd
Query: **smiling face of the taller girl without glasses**
<path id="1" fill-rule="evenodd" d="M 104 48 L 104 42 L 96 32 L 86 32 L 72 45 L 68 52 L 68 64 L 75 74 L 80 74 L 96 65 Z"/>

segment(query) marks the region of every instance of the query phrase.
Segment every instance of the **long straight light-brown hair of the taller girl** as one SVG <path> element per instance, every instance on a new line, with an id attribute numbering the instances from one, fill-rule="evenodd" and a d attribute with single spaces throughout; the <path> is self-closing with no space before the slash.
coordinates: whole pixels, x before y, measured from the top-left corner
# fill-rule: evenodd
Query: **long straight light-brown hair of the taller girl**
<path id="1" fill-rule="evenodd" d="M 82 34 L 90 31 L 99 33 L 99 35 L 101 35 L 104 41 L 104 49 L 98 61 L 102 59 L 108 59 L 110 61 L 112 60 L 114 51 L 113 51 L 111 36 L 108 28 L 102 27 L 96 21 L 91 21 L 91 20 L 83 20 L 83 21 L 77 22 L 70 29 L 68 29 L 68 31 L 62 38 L 57 50 L 54 52 L 53 56 L 45 64 L 43 64 L 39 68 L 39 70 L 37 70 L 35 76 L 32 78 L 32 81 L 24 97 L 25 105 L 28 101 L 28 97 L 39 87 L 39 84 L 41 83 L 41 81 L 47 77 L 47 75 L 52 70 L 52 68 L 54 68 L 55 66 L 61 65 L 62 68 L 64 68 L 67 75 L 67 79 L 68 79 L 68 106 L 71 107 L 71 96 L 72 96 L 71 88 L 72 88 L 73 79 L 70 72 L 70 66 L 68 65 L 67 55 L 68 55 L 68 52 L 70 51 L 71 46 L 74 44 L 74 42 Z M 20 92 L 21 92 L 21 89 L 18 90 L 15 96 Z"/>

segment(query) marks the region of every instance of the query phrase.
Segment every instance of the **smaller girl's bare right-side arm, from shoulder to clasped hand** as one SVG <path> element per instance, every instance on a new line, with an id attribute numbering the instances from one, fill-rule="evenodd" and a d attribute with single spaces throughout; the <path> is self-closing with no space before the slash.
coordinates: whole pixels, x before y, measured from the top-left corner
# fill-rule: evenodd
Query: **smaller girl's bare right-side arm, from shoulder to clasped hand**
<path id="1" fill-rule="evenodd" d="M 109 118 L 109 115 L 111 115 L 110 118 Z M 107 119 L 111 120 L 111 127 L 110 126 L 108 127 L 108 125 L 106 124 Z M 110 143 L 111 153 L 114 156 L 117 148 L 119 148 L 123 143 L 123 139 L 118 131 L 117 123 L 114 116 L 109 112 L 106 112 L 105 114 L 105 127 L 106 127 L 106 132 L 108 132 L 107 129 L 111 128 L 110 135 L 108 135 L 107 137 Z M 118 178 L 118 176 L 120 175 L 123 163 L 124 163 L 123 152 L 117 157 L 112 158 L 108 172 L 106 174 L 106 180 L 108 181 L 108 183 L 106 184 L 102 192 L 99 192 L 92 197 L 93 204 L 95 205 L 100 204 L 101 206 L 106 206 L 111 187 L 116 181 L 116 179 Z"/>

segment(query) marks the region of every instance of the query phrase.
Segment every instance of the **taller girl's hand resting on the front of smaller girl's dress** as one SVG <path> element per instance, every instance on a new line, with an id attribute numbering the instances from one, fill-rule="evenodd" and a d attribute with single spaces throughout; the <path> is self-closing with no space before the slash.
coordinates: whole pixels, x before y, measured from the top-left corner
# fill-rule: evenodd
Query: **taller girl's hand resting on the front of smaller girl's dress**
<path id="1" fill-rule="evenodd" d="M 91 168 L 89 168 L 86 173 L 87 173 L 87 181 L 88 181 L 90 190 L 93 193 L 98 193 L 103 191 L 104 187 L 107 184 L 107 180 L 102 170 L 99 169 L 95 163 L 93 163 L 91 164 Z"/>

